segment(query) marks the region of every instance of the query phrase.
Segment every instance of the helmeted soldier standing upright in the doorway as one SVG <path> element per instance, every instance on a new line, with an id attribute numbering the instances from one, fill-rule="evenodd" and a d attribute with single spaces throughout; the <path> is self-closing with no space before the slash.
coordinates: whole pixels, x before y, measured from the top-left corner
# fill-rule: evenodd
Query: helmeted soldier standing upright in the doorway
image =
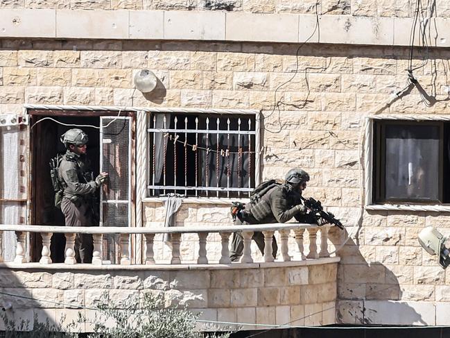
<path id="1" fill-rule="evenodd" d="M 94 179 L 86 157 L 88 138 L 83 130 L 69 129 L 60 140 L 67 149 L 58 165 L 58 180 L 62 187 L 60 207 L 66 226 L 97 226 L 95 192 L 106 182 L 108 174 L 103 172 Z M 76 235 L 78 263 L 91 263 L 93 249 L 92 235 Z"/>

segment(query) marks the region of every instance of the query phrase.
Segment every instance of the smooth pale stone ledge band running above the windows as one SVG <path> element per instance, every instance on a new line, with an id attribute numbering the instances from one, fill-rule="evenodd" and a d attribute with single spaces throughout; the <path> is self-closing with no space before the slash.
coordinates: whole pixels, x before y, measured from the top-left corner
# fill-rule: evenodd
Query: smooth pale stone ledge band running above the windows
<path id="1" fill-rule="evenodd" d="M 407 46 L 413 24 L 411 18 L 320 15 L 315 30 L 315 15 L 184 10 L 0 9 L 0 14 L 0 37 L 58 39 L 302 43 L 312 35 L 311 43 Z M 431 46 L 450 47 L 450 18 L 429 24 Z"/>

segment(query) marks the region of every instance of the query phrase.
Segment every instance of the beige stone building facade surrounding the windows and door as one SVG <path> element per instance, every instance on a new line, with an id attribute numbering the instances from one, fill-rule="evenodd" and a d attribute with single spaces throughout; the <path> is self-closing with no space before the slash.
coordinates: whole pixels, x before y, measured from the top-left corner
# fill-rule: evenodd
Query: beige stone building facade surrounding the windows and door
<path id="1" fill-rule="evenodd" d="M 371 114 L 444 121 L 450 112 L 450 3 L 421 10 L 415 44 L 425 22 L 429 47 L 410 60 L 415 2 L 0 0 L 0 113 L 22 114 L 24 104 L 261 110 L 261 179 L 305 169 L 305 193 L 346 226 L 330 231 L 331 251 L 351 236 L 336 253 L 336 322 L 448 325 L 449 273 L 417 233 L 445 233 L 449 210 L 373 207 L 367 183 Z M 417 87 L 392 98 L 410 65 L 433 104 Z M 145 68 L 160 84 L 144 96 L 132 79 Z M 164 221 L 160 201 L 144 198 L 143 209 L 148 226 Z M 232 220 L 223 203 L 185 201 L 176 223 Z M 195 246 L 183 242 L 187 260 Z"/>

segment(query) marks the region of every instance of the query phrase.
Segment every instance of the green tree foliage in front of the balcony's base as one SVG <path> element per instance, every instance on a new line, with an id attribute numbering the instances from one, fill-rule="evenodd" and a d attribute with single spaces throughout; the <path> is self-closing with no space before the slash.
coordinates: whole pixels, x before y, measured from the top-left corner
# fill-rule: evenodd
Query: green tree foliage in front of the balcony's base
<path id="1" fill-rule="evenodd" d="M 76 333 L 80 327 L 91 331 L 88 338 L 203 338 L 197 330 L 198 313 L 186 306 L 167 306 L 164 294 L 144 294 L 139 301 L 129 301 L 117 308 L 103 301 L 97 307 L 94 318 L 87 318 L 81 312 L 78 319 L 68 326 L 61 323 L 40 323 L 35 317 L 33 326 L 29 321 L 17 323 L 1 314 L 5 324 L 5 338 L 78 338 L 86 337 Z M 207 337 L 228 338 L 229 333 L 208 334 Z"/>

